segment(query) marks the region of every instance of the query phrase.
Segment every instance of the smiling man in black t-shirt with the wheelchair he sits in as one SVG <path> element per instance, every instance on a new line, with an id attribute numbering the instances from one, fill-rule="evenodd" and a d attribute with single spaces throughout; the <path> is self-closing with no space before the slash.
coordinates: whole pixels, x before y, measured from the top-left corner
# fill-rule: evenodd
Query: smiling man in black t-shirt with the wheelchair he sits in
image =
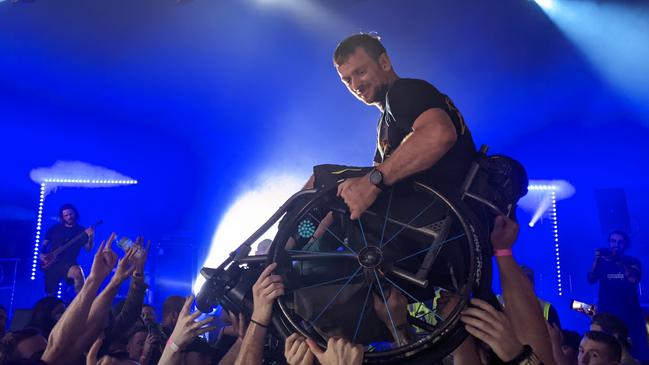
<path id="1" fill-rule="evenodd" d="M 527 178 L 515 161 L 477 153 L 451 99 L 399 78 L 378 37 L 346 38 L 333 60 L 348 90 L 381 111 L 374 163 L 314 167 L 305 189 L 257 232 L 282 218 L 267 257 L 286 287 L 274 323 L 321 346 L 338 336 L 359 343 L 367 362 L 438 359 L 466 337 L 460 315 L 471 297 L 497 305 L 490 223 L 513 212 Z M 242 256 L 231 259 L 253 263 Z M 245 272 L 226 263 L 216 270 L 227 275 L 205 274 L 225 284 L 206 285 L 233 303 L 245 298 Z"/>

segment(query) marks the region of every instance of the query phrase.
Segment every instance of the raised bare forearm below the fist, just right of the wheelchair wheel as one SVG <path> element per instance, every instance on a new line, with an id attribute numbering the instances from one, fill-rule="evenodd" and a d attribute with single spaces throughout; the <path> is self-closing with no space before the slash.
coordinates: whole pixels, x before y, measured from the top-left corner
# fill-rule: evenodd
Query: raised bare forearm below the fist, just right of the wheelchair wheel
<path id="1" fill-rule="evenodd" d="M 554 364 L 552 344 L 534 289 L 512 256 L 499 256 L 498 271 L 509 317 L 516 337 L 529 344 L 546 365 Z"/>

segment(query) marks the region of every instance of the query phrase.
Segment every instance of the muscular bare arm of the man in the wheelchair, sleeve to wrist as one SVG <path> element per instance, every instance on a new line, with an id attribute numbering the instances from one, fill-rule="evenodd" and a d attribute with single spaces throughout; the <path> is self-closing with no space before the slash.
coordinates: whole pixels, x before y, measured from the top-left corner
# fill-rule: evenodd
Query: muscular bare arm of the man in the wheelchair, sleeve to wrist
<path id="1" fill-rule="evenodd" d="M 393 185 L 439 161 L 457 141 L 451 118 L 440 108 L 431 108 L 415 119 L 412 132 L 382 164 L 378 165 L 387 185 Z"/>

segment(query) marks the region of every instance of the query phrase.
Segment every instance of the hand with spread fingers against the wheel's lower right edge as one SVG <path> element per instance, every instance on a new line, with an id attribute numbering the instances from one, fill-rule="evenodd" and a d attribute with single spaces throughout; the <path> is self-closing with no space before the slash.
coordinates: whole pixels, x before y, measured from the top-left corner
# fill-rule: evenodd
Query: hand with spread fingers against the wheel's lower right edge
<path id="1" fill-rule="evenodd" d="M 489 345 L 498 357 L 507 362 L 523 351 L 509 318 L 481 299 L 471 299 L 476 307 L 467 308 L 460 319 L 473 337 Z"/>

